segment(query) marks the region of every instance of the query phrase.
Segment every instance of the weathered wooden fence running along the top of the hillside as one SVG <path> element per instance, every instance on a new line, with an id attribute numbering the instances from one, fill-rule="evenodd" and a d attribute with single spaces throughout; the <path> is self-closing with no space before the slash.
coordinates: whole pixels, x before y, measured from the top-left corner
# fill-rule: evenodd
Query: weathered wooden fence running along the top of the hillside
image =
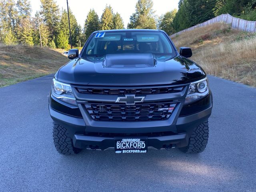
<path id="1" fill-rule="evenodd" d="M 238 30 L 242 30 L 242 31 L 246 31 L 246 32 L 252 32 L 252 33 L 256 32 L 256 21 L 247 21 L 244 19 L 232 17 L 230 14 L 222 14 L 222 15 L 212 18 L 206 22 L 197 24 L 193 27 L 190 27 L 190 28 L 184 29 L 180 32 L 174 33 L 170 37 L 175 37 L 176 35 L 179 35 L 182 32 L 190 31 L 195 28 L 204 27 L 204 26 L 207 26 L 207 25 L 210 25 L 213 23 L 218 23 L 218 22 L 225 22 L 227 24 L 231 24 L 231 27 L 233 29 L 238 29 Z"/>

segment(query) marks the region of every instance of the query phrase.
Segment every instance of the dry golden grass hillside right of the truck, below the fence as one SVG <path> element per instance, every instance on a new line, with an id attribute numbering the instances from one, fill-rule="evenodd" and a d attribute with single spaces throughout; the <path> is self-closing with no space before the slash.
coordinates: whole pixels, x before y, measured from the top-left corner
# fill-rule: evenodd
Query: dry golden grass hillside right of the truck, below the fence
<path id="1" fill-rule="evenodd" d="M 177 48 L 192 48 L 192 60 L 211 75 L 256 86 L 256 34 L 217 23 L 172 38 Z"/>

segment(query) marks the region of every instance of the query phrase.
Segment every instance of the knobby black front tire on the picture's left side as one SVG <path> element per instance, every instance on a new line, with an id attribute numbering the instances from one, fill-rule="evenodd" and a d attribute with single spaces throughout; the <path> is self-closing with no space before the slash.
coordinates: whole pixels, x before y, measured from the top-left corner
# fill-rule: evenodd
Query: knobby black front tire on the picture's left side
<path id="1" fill-rule="evenodd" d="M 53 123 L 52 134 L 55 148 L 60 154 L 77 154 L 80 151 L 80 149 L 73 146 L 68 130 L 63 126 Z"/>

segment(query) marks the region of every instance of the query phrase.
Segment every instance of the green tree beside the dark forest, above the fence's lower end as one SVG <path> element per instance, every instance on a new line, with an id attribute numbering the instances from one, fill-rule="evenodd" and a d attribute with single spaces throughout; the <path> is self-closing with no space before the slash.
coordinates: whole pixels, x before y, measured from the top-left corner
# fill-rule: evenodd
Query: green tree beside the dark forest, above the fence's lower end
<path id="1" fill-rule="evenodd" d="M 161 30 L 164 30 L 168 35 L 174 33 L 174 28 L 173 28 L 173 19 L 177 13 L 177 9 L 174 9 L 172 11 L 167 12 L 162 16 L 159 20 L 159 28 Z"/>

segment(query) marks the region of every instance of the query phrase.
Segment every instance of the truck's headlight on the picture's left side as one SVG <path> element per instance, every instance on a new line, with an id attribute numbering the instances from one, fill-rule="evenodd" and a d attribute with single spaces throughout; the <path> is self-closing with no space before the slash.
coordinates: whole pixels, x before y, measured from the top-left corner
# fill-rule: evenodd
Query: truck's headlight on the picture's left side
<path id="1" fill-rule="evenodd" d="M 62 83 L 56 79 L 52 80 L 52 95 L 68 104 L 76 106 L 76 99 L 69 84 Z"/>

